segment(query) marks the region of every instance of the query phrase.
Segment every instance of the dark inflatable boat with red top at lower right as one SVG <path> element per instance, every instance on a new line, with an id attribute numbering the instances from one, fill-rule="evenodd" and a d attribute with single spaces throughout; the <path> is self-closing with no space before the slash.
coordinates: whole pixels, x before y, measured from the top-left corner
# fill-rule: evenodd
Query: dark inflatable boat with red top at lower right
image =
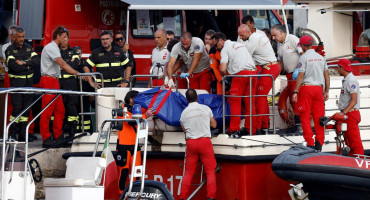
<path id="1" fill-rule="evenodd" d="M 291 147 L 272 162 L 276 175 L 302 183 L 309 199 L 370 199 L 369 156 L 348 157 L 302 145 Z"/>

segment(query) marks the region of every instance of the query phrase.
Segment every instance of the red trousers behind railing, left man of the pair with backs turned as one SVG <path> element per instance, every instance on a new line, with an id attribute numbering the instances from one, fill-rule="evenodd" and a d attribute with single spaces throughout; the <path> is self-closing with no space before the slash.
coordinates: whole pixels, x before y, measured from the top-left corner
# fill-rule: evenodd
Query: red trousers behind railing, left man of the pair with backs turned
<path id="1" fill-rule="evenodd" d="M 241 71 L 236 75 L 255 75 L 256 71 Z M 252 85 L 250 85 L 250 79 L 252 79 Z M 250 96 L 250 91 L 252 90 L 252 95 L 256 95 L 256 86 L 257 86 L 257 78 L 247 78 L 247 77 L 233 77 L 231 82 L 231 87 L 229 90 L 230 95 L 234 96 Z M 255 102 L 250 97 L 243 97 L 243 102 L 245 106 L 246 113 L 245 115 L 252 115 L 256 114 L 256 107 Z M 227 101 L 230 104 L 230 114 L 231 115 L 240 115 L 241 114 L 241 106 L 242 106 L 242 98 L 241 97 L 229 97 Z M 250 110 L 249 103 L 252 103 L 252 110 Z M 228 132 L 239 131 L 240 130 L 240 116 L 231 116 L 230 117 L 230 128 Z M 256 117 L 252 117 L 252 133 L 256 133 Z M 245 128 L 247 131 L 250 131 L 250 121 L 249 117 L 245 117 Z"/>

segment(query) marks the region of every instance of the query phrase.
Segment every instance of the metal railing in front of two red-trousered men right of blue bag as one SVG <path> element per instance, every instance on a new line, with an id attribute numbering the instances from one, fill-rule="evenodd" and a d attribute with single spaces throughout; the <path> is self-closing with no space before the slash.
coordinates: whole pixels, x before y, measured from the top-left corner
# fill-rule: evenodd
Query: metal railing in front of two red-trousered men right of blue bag
<path id="1" fill-rule="evenodd" d="M 260 77 L 269 77 L 271 78 L 272 80 L 272 94 L 267 94 L 267 95 L 253 95 L 252 94 L 252 89 L 249 90 L 249 95 L 247 96 L 235 96 L 235 95 L 226 95 L 226 91 L 225 91 L 225 80 L 226 78 L 235 78 L 235 77 L 239 77 L 239 78 L 248 78 L 249 79 L 249 85 L 251 86 L 252 85 L 252 78 L 254 77 L 257 77 L 257 78 L 260 78 Z M 272 117 L 272 129 L 273 129 L 273 134 L 275 134 L 276 130 L 275 130 L 275 80 L 274 80 L 274 77 L 271 75 L 271 74 L 256 74 L 256 75 L 225 75 L 223 76 L 222 78 L 222 126 L 223 126 L 223 133 L 225 134 L 226 133 L 226 117 L 236 117 L 236 116 L 239 116 L 239 117 L 249 117 L 249 133 L 252 134 L 252 117 L 257 117 L 257 116 L 271 116 Z M 255 114 L 253 115 L 252 114 L 252 100 L 249 101 L 249 114 L 247 115 L 226 115 L 226 98 L 255 98 L 255 97 L 272 97 L 272 113 L 269 113 L 269 114 Z M 247 105 L 246 105 L 247 106 Z M 267 132 L 265 134 L 268 134 Z"/>

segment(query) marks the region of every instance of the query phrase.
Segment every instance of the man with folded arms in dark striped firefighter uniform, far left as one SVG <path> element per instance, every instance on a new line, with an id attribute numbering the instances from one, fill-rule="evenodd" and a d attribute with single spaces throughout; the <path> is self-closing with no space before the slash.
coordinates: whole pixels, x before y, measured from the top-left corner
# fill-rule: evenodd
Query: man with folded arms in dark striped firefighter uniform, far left
<path id="1" fill-rule="evenodd" d="M 15 27 L 13 37 L 14 43 L 5 52 L 9 68 L 10 87 L 32 87 L 33 68 L 40 66 L 40 59 L 32 47 L 24 43 L 24 30 L 22 28 Z M 18 114 L 32 103 L 32 100 L 33 96 L 29 94 L 11 94 L 13 111 L 9 121 L 13 121 Z M 18 134 L 18 141 L 25 141 L 29 115 L 30 110 L 27 110 L 13 123 L 10 128 L 12 138 L 16 139 L 16 134 Z"/>

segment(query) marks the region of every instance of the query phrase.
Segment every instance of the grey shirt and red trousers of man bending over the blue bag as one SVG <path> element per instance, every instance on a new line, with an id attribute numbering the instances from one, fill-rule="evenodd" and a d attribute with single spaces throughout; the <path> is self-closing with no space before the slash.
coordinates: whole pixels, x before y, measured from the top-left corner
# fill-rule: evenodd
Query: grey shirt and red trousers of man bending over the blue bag
<path id="1" fill-rule="evenodd" d="M 189 70 L 193 62 L 194 53 L 201 53 L 198 66 L 189 76 L 190 88 L 211 91 L 212 73 L 209 66 L 209 57 L 204 43 L 200 38 L 193 37 L 188 51 L 182 47 L 181 42 L 175 44 L 171 51 L 171 57 L 178 58 L 184 61 L 184 64 Z"/>

